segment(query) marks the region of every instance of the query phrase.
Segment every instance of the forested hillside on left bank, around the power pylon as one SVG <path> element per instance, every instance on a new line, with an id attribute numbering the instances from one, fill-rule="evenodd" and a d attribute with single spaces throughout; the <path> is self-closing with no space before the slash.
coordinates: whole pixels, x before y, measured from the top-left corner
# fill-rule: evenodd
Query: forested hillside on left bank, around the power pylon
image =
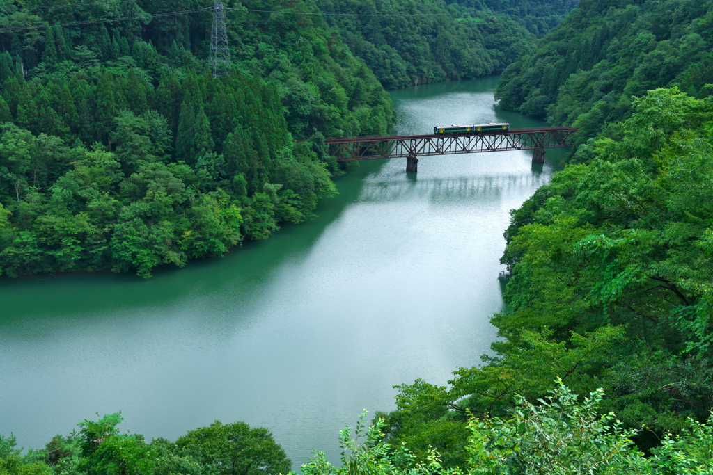
<path id="1" fill-rule="evenodd" d="M 322 16 L 294 14 L 308 5 L 236 5 L 220 78 L 202 6 L 2 4 L 0 273 L 219 256 L 334 192 L 321 137 L 391 126 L 374 75 Z"/>

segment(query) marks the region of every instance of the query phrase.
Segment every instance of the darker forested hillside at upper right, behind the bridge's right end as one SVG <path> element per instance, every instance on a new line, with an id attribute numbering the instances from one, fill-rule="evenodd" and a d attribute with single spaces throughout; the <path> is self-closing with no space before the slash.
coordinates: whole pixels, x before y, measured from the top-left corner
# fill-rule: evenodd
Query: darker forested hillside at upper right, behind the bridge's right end
<path id="1" fill-rule="evenodd" d="M 584 141 L 627 118 L 646 90 L 709 95 L 712 48 L 712 1 L 583 0 L 508 66 L 496 96 L 508 110 L 581 127 Z"/>

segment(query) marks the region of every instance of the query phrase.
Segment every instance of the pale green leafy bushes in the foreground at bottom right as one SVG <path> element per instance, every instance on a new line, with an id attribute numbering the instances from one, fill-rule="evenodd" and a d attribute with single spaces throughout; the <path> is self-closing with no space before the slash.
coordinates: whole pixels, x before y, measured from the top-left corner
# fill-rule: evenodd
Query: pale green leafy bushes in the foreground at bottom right
<path id="1" fill-rule="evenodd" d="M 713 415 L 707 424 L 687 421 L 679 437 L 665 434 L 661 447 L 645 457 L 613 413 L 597 415 L 604 392 L 596 390 L 583 402 L 559 382 L 552 394 L 538 402 L 516 398 L 507 417 L 471 418 L 461 447 L 466 459 L 443 466 L 431 449 L 424 460 L 408 444 L 384 442 L 383 421 L 354 436 L 342 431 L 342 465 L 329 464 L 324 453 L 302 466 L 304 475 L 438 474 L 438 475 L 604 475 L 713 473 Z"/>

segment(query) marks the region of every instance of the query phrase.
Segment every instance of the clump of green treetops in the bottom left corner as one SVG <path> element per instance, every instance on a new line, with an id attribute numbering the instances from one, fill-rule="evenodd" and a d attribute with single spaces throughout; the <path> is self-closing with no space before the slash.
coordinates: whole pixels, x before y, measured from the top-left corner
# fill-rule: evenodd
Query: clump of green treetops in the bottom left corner
<path id="1" fill-rule="evenodd" d="M 120 413 L 78 424 L 79 432 L 58 435 L 44 449 L 27 454 L 14 437 L 0 436 L 1 475 L 278 475 L 291 462 L 267 429 L 245 422 L 194 429 L 173 443 L 145 442 L 120 434 Z"/>

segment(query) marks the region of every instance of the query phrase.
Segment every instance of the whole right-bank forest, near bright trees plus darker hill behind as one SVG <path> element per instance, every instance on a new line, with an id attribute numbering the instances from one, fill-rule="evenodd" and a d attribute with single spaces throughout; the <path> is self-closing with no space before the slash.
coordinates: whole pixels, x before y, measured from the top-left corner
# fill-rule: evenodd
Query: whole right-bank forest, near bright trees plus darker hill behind
<path id="1" fill-rule="evenodd" d="M 513 210 L 495 356 L 446 386 L 401 385 L 379 414 L 391 444 L 464 466 L 471 417 L 513 417 L 515 397 L 540 400 L 557 377 L 578 395 L 603 388 L 600 414 L 649 455 L 709 417 L 712 5 L 585 0 L 503 73 L 503 108 L 578 125 L 586 143 Z M 690 473 L 710 473 L 705 454 Z"/>

